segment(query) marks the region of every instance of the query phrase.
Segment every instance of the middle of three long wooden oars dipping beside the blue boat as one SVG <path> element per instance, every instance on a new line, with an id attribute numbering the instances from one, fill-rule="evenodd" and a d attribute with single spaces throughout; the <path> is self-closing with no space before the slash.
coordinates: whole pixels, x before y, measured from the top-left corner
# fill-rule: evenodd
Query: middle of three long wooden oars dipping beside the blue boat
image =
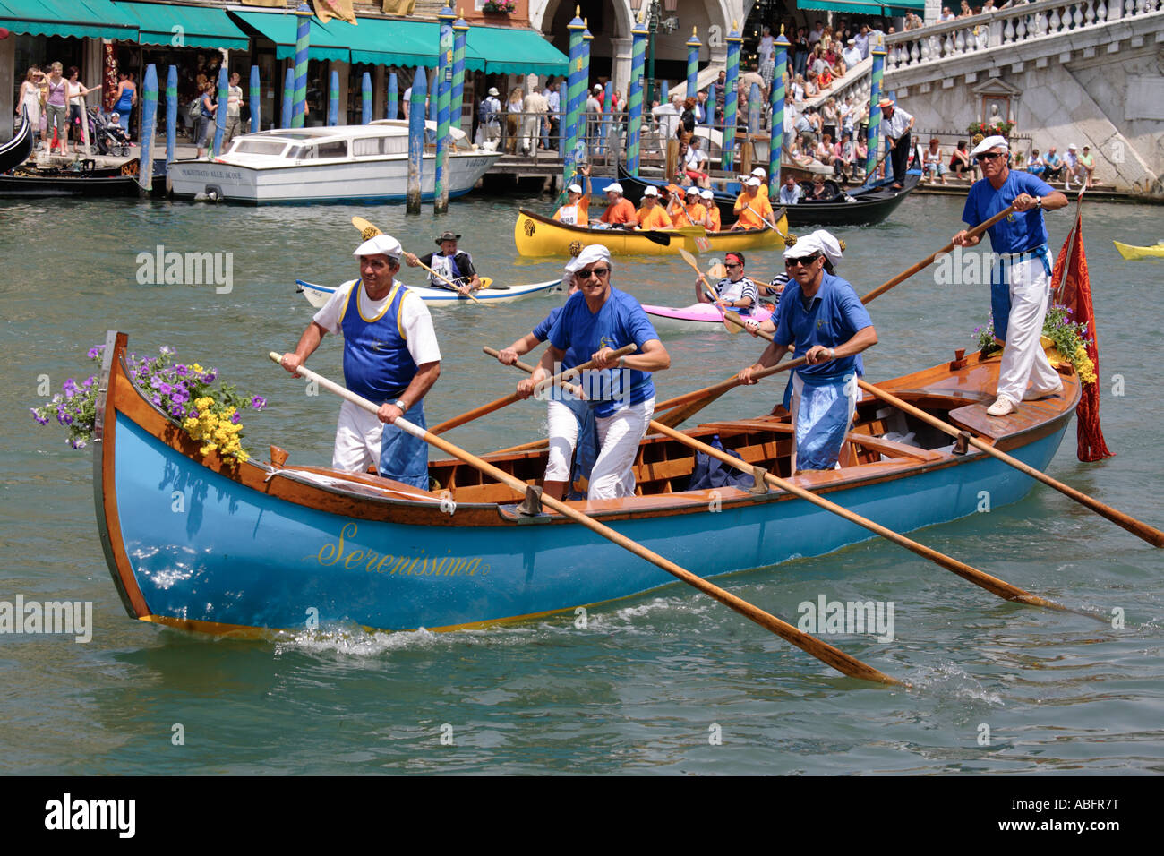
<path id="1" fill-rule="evenodd" d="M 769 337 L 764 331 L 760 331 L 760 335 L 769 340 L 772 339 L 772 337 Z M 530 372 L 530 373 L 533 372 L 532 368 L 523 363 L 514 363 L 514 365 L 524 372 Z M 676 431 L 669 425 L 663 425 L 662 423 L 652 419 L 651 430 L 658 431 L 659 433 L 665 434 L 666 437 L 669 437 L 673 440 L 677 440 L 679 443 L 682 443 L 683 445 L 689 446 L 690 448 L 694 448 L 698 452 L 703 452 L 707 455 L 721 460 L 724 464 L 728 464 L 729 466 L 734 467 L 736 469 L 743 473 L 747 473 L 748 475 L 752 476 L 757 475 L 755 469 L 753 469 L 751 465 L 741 461 L 739 458 L 733 458 L 726 452 L 715 448 L 714 446 L 709 446 L 705 443 L 701 443 L 700 440 L 696 440 L 694 437 L 684 434 L 681 431 Z M 794 496 L 799 496 L 800 498 L 807 502 L 811 502 L 814 505 L 817 505 L 819 508 L 825 509 L 826 511 L 831 511 L 835 515 L 844 517 L 850 523 L 856 523 L 858 526 L 863 526 L 868 531 L 881 536 L 882 538 L 892 540 L 894 544 L 906 547 L 906 550 L 910 550 L 917 553 L 918 556 L 929 559 L 930 561 L 937 565 L 941 565 L 946 571 L 952 571 L 953 573 L 961 576 L 964 580 L 968 580 L 970 582 L 973 582 L 975 586 L 980 586 L 981 588 L 985 588 L 987 592 L 998 595 L 1003 600 L 1017 601 L 1020 603 L 1028 603 L 1035 607 L 1045 607 L 1046 609 L 1076 611 L 1059 603 L 1056 603 L 1055 601 L 1049 601 L 1044 597 L 1039 597 L 1037 594 L 1031 594 L 1025 589 L 1018 588 L 1017 586 L 1013 586 L 1005 580 L 1000 580 L 998 576 L 992 576 L 985 571 L 979 571 L 978 568 L 967 565 L 964 561 L 958 561 L 957 559 L 951 558 L 945 553 L 939 553 L 937 550 L 928 547 L 924 544 L 920 544 L 913 540 L 911 538 L 907 538 L 906 536 L 895 532 L 892 529 L 882 526 L 880 523 L 874 523 L 867 517 L 863 517 L 853 511 L 850 511 L 849 509 L 843 508 L 835 502 L 830 502 L 829 500 L 825 500 L 823 496 L 818 496 L 817 494 L 814 494 L 811 490 L 805 490 L 804 488 L 794 484 L 790 481 L 781 479 L 778 475 L 764 472 L 764 479 L 773 487 L 779 488 L 780 490 L 789 493 Z M 1091 615 L 1091 614 L 1083 613 L 1083 615 Z M 1091 617 L 1095 616 L 1091 615 Z"/>

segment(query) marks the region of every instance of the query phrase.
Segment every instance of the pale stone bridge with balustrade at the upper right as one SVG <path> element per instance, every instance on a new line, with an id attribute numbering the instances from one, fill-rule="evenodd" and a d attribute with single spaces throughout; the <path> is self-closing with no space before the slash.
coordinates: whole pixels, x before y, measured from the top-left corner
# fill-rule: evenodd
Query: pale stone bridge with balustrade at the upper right
<path id="1" fill-rule="evenodd" d="M 916 127 L 1007 120 L 1044 153 L 1091 146 L 1108 186 L 1164 196 L 1164 0 L 1018 3 L 886 50 L 882 89 Z"/>

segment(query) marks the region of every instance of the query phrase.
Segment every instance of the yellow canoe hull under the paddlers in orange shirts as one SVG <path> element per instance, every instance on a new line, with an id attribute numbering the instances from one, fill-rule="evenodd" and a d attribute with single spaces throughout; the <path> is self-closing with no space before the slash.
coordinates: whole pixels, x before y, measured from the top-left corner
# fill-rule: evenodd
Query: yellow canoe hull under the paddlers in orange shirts
<path id="1" fill-rule="evenodd" d="M 788 218 L 779 211 L 776 226 L 788 232 Z M 785 239 L 771 228 L 741 232 L 708 232 L 702 226 L 679 229 L 632 232 L 568 226 L 548 217 L 521 208 L 513 226 L 517 252 L 525 256 L 577 255 L 585 246 L 602 243 L 615 255 L 679 255 L 688 253 L 728 253 L 733 249 L 783 249 Z"/>

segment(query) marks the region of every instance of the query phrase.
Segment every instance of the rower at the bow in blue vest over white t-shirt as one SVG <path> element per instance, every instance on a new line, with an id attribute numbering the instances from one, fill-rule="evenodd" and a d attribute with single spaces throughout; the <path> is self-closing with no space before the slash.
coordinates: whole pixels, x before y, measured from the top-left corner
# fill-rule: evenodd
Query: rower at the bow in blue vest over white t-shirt
<path id="1" fill-rule="evenodd" d="M 381 406 L 369 413 L 343 402 L 332 466 L 362 473 L 376 465 L 385 479 L 427 490 L 428 444 L 393 423 L 404 416 L 425 426 L 424 397 L 440 377 L 440 347 L 424 300 L 393 278 L 403 253 L 391 235 L 361 243 L 353 253 L 360 278 L 335 290 L 279 365 L 294 374 L 326 333 L 342 332 L 345 384 Z"/>

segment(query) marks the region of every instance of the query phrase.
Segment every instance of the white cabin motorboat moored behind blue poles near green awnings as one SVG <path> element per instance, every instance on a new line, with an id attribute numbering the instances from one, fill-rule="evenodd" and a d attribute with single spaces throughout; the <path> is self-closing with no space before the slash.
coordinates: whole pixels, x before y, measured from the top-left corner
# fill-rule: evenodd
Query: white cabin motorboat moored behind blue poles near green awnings
<path id="1" fill-rule="evenodd" d="M 448 194 L 473 190 L 501 157 L 450 128 Z M 421 198 L 433 198 L 436 123 L 425 122 Z M 173 161 L 169 183 L 177 197 L 263 205 L 271 203 L 398 203 L 407 197 L 409 123 L 281 128 L 242 134 L 213 161 Z"/>

